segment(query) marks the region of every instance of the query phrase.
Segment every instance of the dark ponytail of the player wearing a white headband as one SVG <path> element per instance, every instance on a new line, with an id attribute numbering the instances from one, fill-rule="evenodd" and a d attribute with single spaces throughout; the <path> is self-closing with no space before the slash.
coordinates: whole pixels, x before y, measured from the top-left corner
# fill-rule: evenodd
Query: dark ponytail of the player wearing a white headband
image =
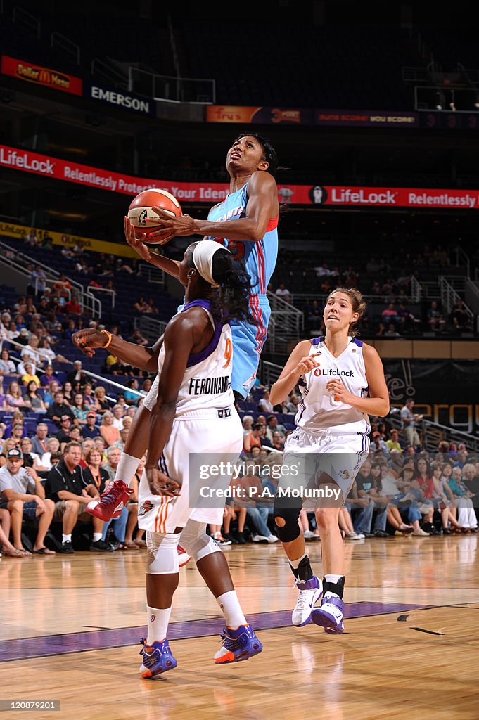
<path id="1" fill-rule="evenodd" d="M 212 312 L 224 323 L 236 318 L 257 325 L 249 311 L 251 277 L 246 272 L 244 261 L 235 260 L 226 248 L 220 248 L 213 256 L 211 271 L 215 282 L 220 284 L 218 297 L 211 303 Z"/>

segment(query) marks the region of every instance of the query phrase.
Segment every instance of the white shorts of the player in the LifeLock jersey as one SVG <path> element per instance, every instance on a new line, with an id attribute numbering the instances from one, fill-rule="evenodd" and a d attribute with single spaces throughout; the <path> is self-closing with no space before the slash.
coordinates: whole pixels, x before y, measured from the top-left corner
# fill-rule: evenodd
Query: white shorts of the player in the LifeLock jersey
<path id="1" fill-rule="evenodd" d="M 288 466 L 290 472 L 282 473 L 279 484 L 287 487 L 289 482 L 291 487 L 313 487 L 325 473 L 341 488 L 341 503 L 344 503 L 369 449 L 370 438 L 366 433 L 334 435 L 325 430 L 313 435 L 296 428 L 287 436 L 283 457 L 283 466 Z M 297 474 L 291 472 L 292 467 L 297 469 Z M 304 504 L 305 507 L 318 506 L 314 501 Z"/>

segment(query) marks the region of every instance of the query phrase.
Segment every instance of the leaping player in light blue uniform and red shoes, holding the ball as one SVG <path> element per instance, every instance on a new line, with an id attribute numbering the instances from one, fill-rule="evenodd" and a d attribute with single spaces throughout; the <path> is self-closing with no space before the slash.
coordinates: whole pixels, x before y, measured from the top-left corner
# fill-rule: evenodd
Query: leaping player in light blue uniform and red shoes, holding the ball
<path id="1" fill-rule="evenodd" d="M 164 225 L 158 233 L 164 234 L 165 229 L 171 231 L 162 245 L 177 235 L 205 235 L 205 240 L 213 238 L 233 251 L 235 258 L 243 259 L 246 263 L 252 285 L 249 312 L 255 324 L 236 318 L 231 321 L 231 387 L 238 399 L 246 397 L 254 384 L 259 356 L 267 338 L 270 308 L 266 291 L 276 264 L 278 245 L 279 203 L 274 180 L 278 167 L 277 154 L 261 135 L 245 132 L 238 135 L 228 150 L 226 167 L 230 175 L 230 192 L 223 202 L 212 207 L 208 220 L 194 220 L 189 215 L 171 218 L 159 207 L 154 210 Z M 135 234 L 135 228 L 127 217 L 124 218 L 124 230 L 127 243 L 140 257 L 171 276 L 179 277 L 179 262 L 151 252 L 151 248 L 143 242 L 146 235 Z M 88 331 L 82 331 L 85 332 Z M 86 337 L 85 334 L 81 336 Z M 125 359 L 117 340 L 114 338 L 112 342 L 112 352 Z M 161 339 L 158 343 L 161 343 Z M 153 347 L 157 350 L 158 344 Z M 86 348 L 80 349 L 85 351 Z M 126 361 L 138 367 L 134 362 Z M 155 372 L 154 368 L 147 369 Z M 158 378 L 153 382 L 154 390 L 157 387 Z M 146 452 L 149 414 L 143 405 L 139 408 L 118 463 L 115 480 L 105 488 L 96 507 L 89 508 L 89 511 L 94 509 L 94 514 L 104 521 L 111 520 L 116 508 L 127 502 L 128 485 L 135 475 L 140 458 Z"/>

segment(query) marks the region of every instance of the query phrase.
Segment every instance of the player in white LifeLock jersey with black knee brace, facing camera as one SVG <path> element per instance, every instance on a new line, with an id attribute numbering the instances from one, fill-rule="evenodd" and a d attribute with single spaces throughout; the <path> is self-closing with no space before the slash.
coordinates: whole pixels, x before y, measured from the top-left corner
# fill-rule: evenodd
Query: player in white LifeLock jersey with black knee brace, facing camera
<path id="1" fill-rule="evenodd" d="M 368 414 L 384 417 L 389 412 L 380 357 L 375 348 L 354 337 L 364 309 L 357 289 L 333 290 L 323 313 L 326 335 L 297 344 L 269 394 L 273 405 L 277 405 L 296 385 L 301 392 L 296 429 L 287 437 L 284 457 L 288 471 L 294 467 L 300 471 L 296 481 L 294 469 L 290 478 L 283 474 L 279 488 L 285 494 L 281 497 L 278 490 L 274 500 L 279 539 L 299 590 L 292 623 L 303 626 L 312 620 L 331 634 L 344 631 L 344 549 L 339 508 L 367 457 L 371 429 Z M 315 498 L 323 581 L 313 575 L 297 521 L 308 497 L 305 487 L 315 487 L 326 495 L 318 498 L 318 493 Z M 290 491 L 298 489 L 300 496 L 295 497 Z M 320 598 L 321 607 L 315 608 Z"/>

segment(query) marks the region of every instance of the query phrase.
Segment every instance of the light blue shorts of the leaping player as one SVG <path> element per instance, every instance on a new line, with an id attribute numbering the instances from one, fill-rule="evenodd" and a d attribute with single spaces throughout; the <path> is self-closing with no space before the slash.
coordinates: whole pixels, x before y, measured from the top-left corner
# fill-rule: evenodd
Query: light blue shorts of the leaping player
<path id="1" fill-rule="evenodd" d="M 231 320 L 233 338 L 233 372 L 231 387 L 243 398 L 254 385 L 258 372 L 259 356 L 268 336 L 268 323 L 271 307 L 266 295 L 251 298 L 249 310 L 258 325 L 250 325 L 244 320 Z"/>

